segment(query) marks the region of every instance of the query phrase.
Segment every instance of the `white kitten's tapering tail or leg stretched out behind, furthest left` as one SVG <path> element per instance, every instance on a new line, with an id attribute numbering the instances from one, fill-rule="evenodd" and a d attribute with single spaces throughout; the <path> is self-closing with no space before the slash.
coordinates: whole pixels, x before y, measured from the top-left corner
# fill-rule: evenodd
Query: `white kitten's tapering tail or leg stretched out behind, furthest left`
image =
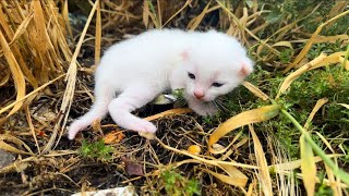
<path id="1" fill-rule="evenodd" d="M 106 86 L 98 86 L 105 88 Z M 96 85 L 97 88 L 97 85 Z M 95 120 L 101 120 L 108 112 L 108 105 L 115 98 L 115 93 L 107 91 L 108 89 L 95 89 L 96 101 L 92 106 L 91 110 L 83 117 L 75 120 L 69 127 L 68 138 L 74 139 L 75 135 L 85 130 Z"/>

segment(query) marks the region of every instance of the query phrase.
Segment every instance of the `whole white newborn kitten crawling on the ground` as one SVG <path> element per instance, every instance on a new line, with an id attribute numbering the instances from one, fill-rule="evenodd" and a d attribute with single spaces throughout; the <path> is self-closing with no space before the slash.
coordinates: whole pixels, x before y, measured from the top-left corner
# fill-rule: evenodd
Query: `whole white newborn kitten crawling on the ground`
<path id="1" fill-rule="evenodd" d="M 253 62 L 244 48 L 226 34 L 148 30 L 105 52 L 95 73 L 96 101 L 70 125 L 69 138 L 108 111 L 121 127 L 154 133 L 153 123 L 131 112 L 168 89 L 183 88 L 192 110 L 213 114 L 217 109 L 207 102 L 231 91 L 252 71 Z"/>

